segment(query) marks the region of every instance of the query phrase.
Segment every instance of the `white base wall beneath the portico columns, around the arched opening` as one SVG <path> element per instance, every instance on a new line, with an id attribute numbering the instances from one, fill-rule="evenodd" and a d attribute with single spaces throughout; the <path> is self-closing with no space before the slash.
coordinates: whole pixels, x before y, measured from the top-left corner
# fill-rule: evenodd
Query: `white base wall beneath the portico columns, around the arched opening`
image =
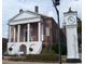
<path id="1" fill-rule="evenodd" d="M 13 48 L 12 54 L 18 54 L 19 46 L 25 44 L 27 47 L 27 54 L 40 54 L 42 51 L 42 41 L 30 41 L 30 42 L 9 42 L 8 49 Z M 33 51 L 29 51 L 29 48 L 32 48 Z M 10 52 L 9 52 L 10 53 Z"/>

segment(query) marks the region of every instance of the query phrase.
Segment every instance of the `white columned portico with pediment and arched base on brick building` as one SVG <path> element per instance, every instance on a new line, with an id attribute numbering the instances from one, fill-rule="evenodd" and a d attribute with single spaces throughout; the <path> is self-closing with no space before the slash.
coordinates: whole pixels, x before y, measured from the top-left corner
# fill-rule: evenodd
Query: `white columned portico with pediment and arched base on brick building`
<path id="1" fill-rule="evenodd" d="M 42 51 L 42 18 L 40 14 L 20 11 L 9 22 L 9 54 L 39 54 Z"/>

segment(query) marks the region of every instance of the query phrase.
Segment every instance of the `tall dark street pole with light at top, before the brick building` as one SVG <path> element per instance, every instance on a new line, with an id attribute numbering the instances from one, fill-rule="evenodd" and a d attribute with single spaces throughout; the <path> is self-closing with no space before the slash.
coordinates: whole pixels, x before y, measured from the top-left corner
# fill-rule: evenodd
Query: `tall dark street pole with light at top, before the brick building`
<path id="1" fill-rule="evenodd" d="M 59 5 L 60 1 L 59 0 L 52 0 L 53 1 L 53 4 L 54 4 L 54 8 L 56 10 L 56 13 L 57 13 L 57 18 L 58 18 L 58 26 L 60 27 L 60 22 L 59 22 L 59 11 L 57 9 L 57 5 Z M 60 51 L 60 30 L 58 28 L 58 47 L 59 47 L 59 64 L 61 64 L 61 51 Z"/>

